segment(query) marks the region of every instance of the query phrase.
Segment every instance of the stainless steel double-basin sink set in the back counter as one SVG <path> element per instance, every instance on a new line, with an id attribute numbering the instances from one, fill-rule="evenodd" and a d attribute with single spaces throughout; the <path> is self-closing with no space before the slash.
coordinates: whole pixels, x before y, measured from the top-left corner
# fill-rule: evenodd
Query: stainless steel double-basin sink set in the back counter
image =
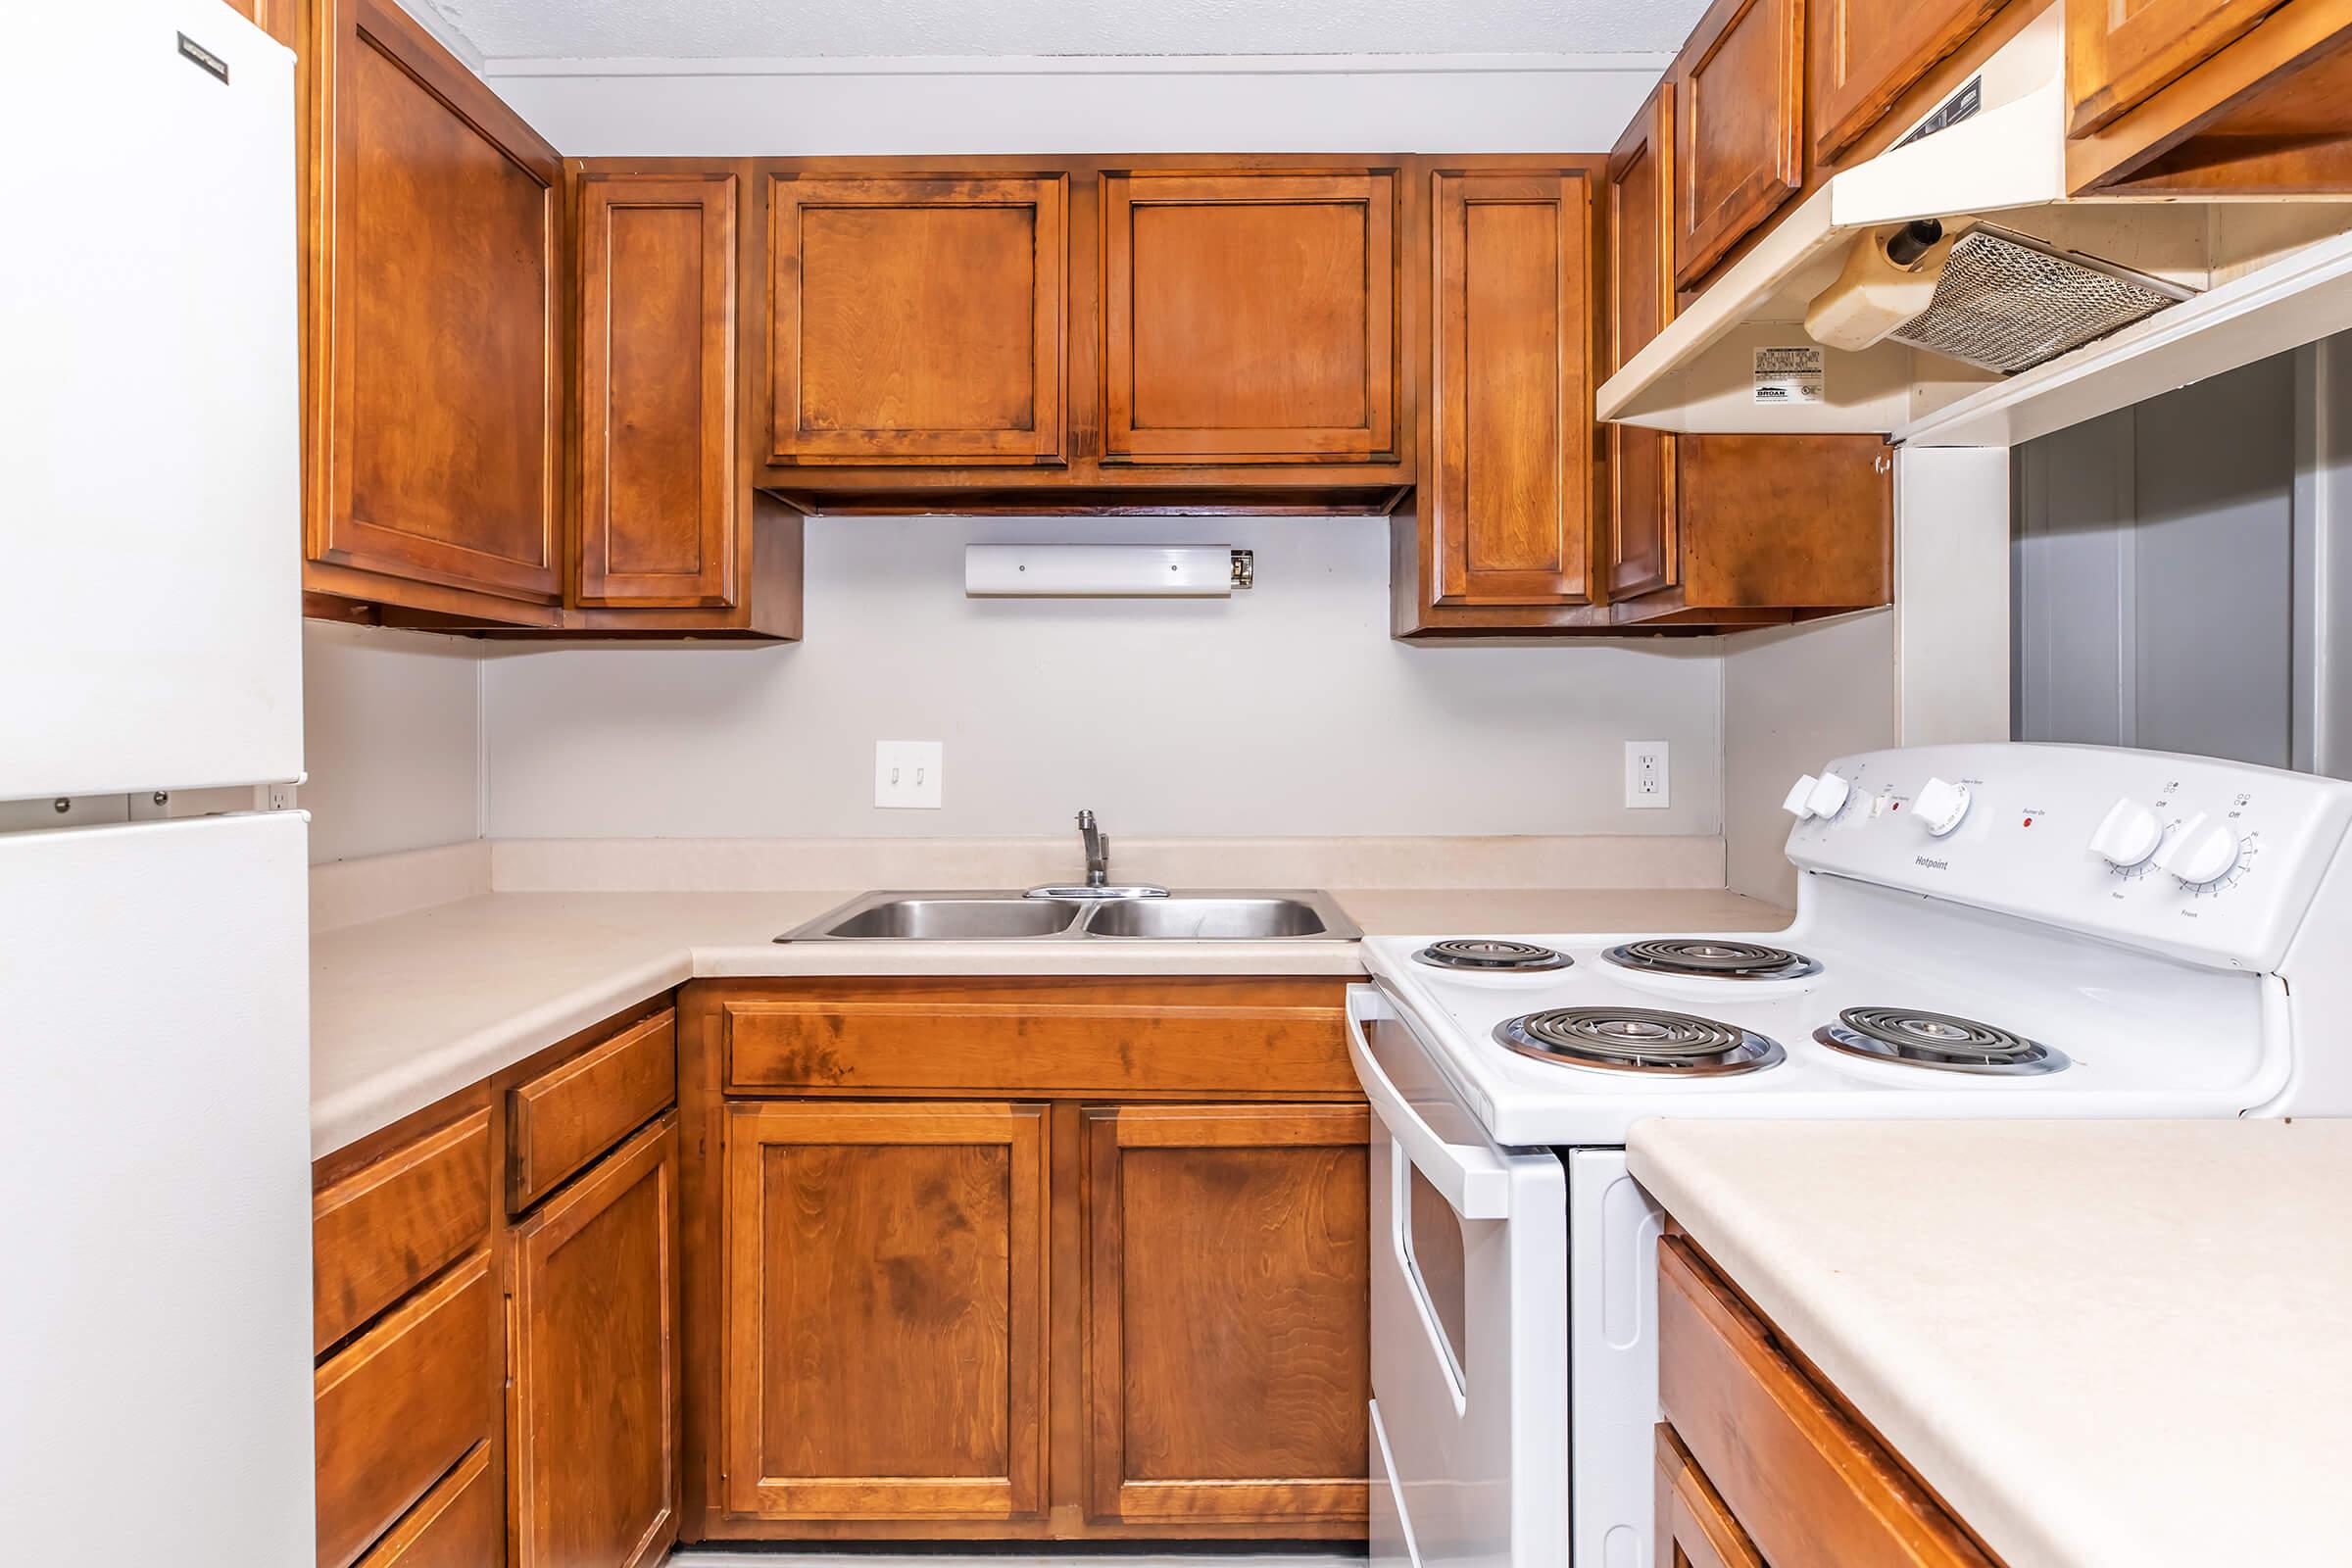
<path id="1" fill-rule="evenodd" d="M 1364 936 L 1319 891 L 1207 891 L 1157 898 L 1002 893 L 866 893 L 779 943 L 1049 943 L 1049 940 L 1324 940 Z"/>

